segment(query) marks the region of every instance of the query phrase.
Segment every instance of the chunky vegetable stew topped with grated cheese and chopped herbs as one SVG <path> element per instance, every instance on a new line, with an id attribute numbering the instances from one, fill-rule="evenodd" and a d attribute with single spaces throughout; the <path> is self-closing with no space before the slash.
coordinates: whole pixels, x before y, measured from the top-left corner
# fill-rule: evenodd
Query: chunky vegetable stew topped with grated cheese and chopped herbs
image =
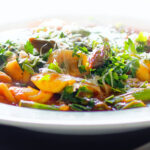
<path id="1" fill-rule="evenodd" d="M 23 35 L 21 35 L 23 36 Z M 61 23 L 0 43 L 0 102 L 58 111 L 114 111 L 150 102 L 150 33 Z"/>

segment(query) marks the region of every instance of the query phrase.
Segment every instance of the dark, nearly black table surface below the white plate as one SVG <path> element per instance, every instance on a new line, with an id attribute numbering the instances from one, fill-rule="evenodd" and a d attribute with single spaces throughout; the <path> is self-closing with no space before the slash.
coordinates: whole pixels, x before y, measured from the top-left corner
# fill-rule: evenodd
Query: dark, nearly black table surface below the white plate
<path id="1" fill-rule="evenodd" d="M 58 135 L 0 126 L 0 150 L 149 150 L 150 128 L 110 135 Z M 139 148 L 142 146 L 142 148 Z"/>

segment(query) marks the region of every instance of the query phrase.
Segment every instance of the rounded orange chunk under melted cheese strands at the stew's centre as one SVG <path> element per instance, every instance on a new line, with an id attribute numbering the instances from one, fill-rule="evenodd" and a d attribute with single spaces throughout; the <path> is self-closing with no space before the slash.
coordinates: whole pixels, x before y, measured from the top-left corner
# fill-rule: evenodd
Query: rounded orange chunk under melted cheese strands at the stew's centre
<path id="1" fill-rule="evenodd" d="M 88 57 L 83 53 L 74 55 L 72 50 L 54 51 L 48 58 L 48 63 L 58 63 L 63 72 L 75 77 L 83 77 L 89 73 Z M 85 70 L 80 70 L 81 66 L 85 66 Z"/>

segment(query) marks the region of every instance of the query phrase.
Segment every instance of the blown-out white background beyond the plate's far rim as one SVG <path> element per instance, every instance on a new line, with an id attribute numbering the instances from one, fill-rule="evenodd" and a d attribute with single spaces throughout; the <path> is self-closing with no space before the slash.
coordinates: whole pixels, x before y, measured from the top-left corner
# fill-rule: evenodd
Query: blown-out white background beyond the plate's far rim
<path id="1" fill-rule="evenodd" d="M 125 17 L 149 17 L 149 0 L 4 0 L 0 5 L 1 21 L 43 15 L 108 14 Z"/>

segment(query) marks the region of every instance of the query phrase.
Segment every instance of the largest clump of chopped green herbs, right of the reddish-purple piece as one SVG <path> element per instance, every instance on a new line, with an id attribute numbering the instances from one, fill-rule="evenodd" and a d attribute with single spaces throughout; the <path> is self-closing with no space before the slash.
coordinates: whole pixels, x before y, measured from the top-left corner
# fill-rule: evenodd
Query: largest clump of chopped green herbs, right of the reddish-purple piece
<path id="1" fill-rule="evenodd" d="M 91 73 L 100 76 L 98 82 L 101 86 L 109 84 L 112 88 L 119 88 L 119 91 L 122 91 L 128 78 L 125 62 L 123 57 L 111 56 L 103 66 Z"/>

